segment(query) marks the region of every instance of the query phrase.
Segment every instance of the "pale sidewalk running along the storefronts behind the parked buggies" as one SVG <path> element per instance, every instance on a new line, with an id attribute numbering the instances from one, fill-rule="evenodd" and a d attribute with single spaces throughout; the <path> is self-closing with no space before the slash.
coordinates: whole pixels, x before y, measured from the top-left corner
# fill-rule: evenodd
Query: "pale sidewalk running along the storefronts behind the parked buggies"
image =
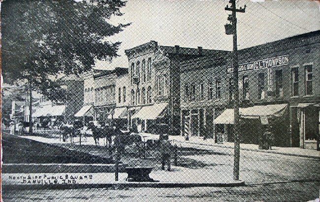
<path id="1" fill-rule="evenodd" d="M 159 135 L 154 135 L 150 133 L 141 133 L 146 140 L 148 139 L 159 139 Z M 183 136 L 169 136 L 169 140 L 177 140 L 183 146 L 210 149 L 210 147 L 224 147 L 224 148 L 234 148 L 234 143 L 224 142 L 223 144 L 215 144 L 214 139 L 206 139 L 205 141 L 199 137 L 189 137 L 189 141 L 185 140 Z M 202 145 L 202 146 L 201 146 Z M 320 151 L 312 150 L 312 149 L 301 149 L 298 147 L 277 147 L 272 146 L 272 150 L 264 150 L 258 149 L 258 145 L 256 144 L 240 144 L 240 149 L 249 150 L 249 151 L 257 151 L 257 152 L 265 152 L 265 153 L 276 153 L 290 156 L 300 156 L 300 157 L 311 157 L 311 158 L 319 158 L 320 159 Z"/>

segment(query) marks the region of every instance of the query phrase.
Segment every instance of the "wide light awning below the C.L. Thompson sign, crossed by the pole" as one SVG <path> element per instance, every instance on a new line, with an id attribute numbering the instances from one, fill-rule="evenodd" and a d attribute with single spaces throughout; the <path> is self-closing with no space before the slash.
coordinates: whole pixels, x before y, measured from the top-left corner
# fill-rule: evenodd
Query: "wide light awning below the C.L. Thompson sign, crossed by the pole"
<path id="1" fill-rule="evenodd" d="M 287 104 L 261 105 L 248 108 L 239 108 L 241 118 L 259 118 L 260 116 L 282 116 L 287 109 Z M 233 109 L 226 109 L 213 122 L 214 124 L 233 124 Z"/>

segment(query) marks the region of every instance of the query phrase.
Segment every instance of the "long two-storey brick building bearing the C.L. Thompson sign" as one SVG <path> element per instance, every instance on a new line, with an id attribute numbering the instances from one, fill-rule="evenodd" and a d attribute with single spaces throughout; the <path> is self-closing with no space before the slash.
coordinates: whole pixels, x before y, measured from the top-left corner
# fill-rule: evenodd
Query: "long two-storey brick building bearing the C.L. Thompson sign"
<path id="1" fill-rule="evenodd" d="M 258 144 L 259 134 L 266 128 L 261 123 L 263 116 L 269 125 L 273 126 L 275 145 L 316 148 L 320 122 L 319 43 L 320 31 L 314 31 L 239 51 L 242 143 Z M 181 64 L 182 117 L 187 116 L 184 110 L 189 110 L 191 117 L 188 118 L 192 119 L 193 112 L 196 115 L 195 108 L 198 108 L 199 121 L 195 121 L 198 128 L 213 127 L 214 129 L 208 130 L 210 133 L 208 136 L 217 139 L 219 134 L 223 134 L 226 141 L 233 141 L 231 59 L 232 53 L 228 53 L 224 58 L 215 56 Z M 192 96 L 184 98 L 187 78 L 194 78 L 187 83 L 188 85 L 195 83 L 195 87 L 192 86 L 190 89 L 195 92 L 195 100 Z M 206 81 L 208 78 L 213 80 L 212 84 Z M 205 96 L 212 96 L 215 99 L 212 103 L 206 103 L 208 101 L 206 97 L 205 103 L 200 101 L 203 99 L 200 95 L 202 81 Z M 183 102 L 183 98 L 193 103 Z M 211 106 L 215 108 L 215 112 L 210 111 L 209 116 L 207 111 L 199 110 Z M 202 118 L 204 120 L 201 121 L 203 114 L 205 114 Z M 213 122 L 211 116 L 216 117 Z M 184 125 L 184 122 L 181 121 L 181 124 Z M 191 128 L 196 125 L 192 121 L 189 124 Z M 184 134 L 184 130 L 181 133 Z M 201 130 L 197 133 L 201 134 Z"/>

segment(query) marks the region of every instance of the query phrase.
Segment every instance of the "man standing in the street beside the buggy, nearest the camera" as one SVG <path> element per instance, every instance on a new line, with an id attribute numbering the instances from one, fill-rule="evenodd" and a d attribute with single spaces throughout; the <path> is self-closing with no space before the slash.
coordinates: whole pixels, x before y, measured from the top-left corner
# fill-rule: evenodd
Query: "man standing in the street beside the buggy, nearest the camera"
<path id="1" fill-rule="evenodd" d="M 167 135 L 162 135 L 162 140 L 160 141 L 161 147 L 161 169 L 164 170 L 165 164 L 167 164 L 167 171 L 171 170 L 171 152 L 173 151 L 173 146 L 170 144 Z"/>

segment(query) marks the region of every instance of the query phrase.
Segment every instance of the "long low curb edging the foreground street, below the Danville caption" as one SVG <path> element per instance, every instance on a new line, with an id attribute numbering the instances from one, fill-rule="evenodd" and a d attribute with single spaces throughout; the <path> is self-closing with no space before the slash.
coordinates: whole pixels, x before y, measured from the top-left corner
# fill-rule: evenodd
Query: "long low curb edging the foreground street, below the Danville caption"
<path id="1" fill-rule="evenodd" d="M 2 190 L 44 190 L 44 189 L 99 189 L 99 188 L 189 188 L 189 187 L 237 187 L 244 186 L 245 181 L 220 183 L 184 183 L 184 182 L 114 182 L 105 184 L 2 184 Z"/>

